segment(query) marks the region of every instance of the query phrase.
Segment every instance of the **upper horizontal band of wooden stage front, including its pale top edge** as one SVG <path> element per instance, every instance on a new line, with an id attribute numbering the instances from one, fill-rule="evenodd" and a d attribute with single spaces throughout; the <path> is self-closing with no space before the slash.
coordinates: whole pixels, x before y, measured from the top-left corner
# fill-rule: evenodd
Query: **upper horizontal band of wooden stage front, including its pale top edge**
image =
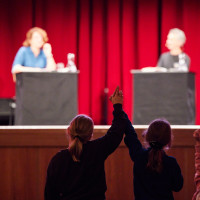
<path id="1" fill-rule="evenodd" d="M 0 126 L 0 147 L 6 146 L 66 146 L 66 128 L 68 126 Z M 103 136 L 109 129 L 106 126 L 94 126 L 93 139 Z M 193 133 L 200 125 L 171 125 L 175 146 L 191 146 L 195 144 Z M 148 125 L 134 126 L 138 137 Z M 40 140 L 38 140 L 40 138 Z M 121 144 L 124 145 L 124 144 Z"/>

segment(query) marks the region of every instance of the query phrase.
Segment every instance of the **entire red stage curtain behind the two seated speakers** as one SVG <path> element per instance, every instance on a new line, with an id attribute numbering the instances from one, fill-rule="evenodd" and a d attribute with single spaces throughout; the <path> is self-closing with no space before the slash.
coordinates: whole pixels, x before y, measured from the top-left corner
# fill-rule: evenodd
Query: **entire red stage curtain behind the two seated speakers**
<path id="1" fill-rule="evenodd" d="M 196 124 L 200 124 L 199 0 L 7 0 L 0 6 L 0 97 L 13 97 L 13 58 L 26 31 L 44 28 L 56 62 L 76 54 L 79 113 L 111 123 L 108 97 L 119 85 L 132 118 L 131 69 L 155 66 L 167 51 L 169 29 L 185 31 L 185 52 L 196 75 Z"/>

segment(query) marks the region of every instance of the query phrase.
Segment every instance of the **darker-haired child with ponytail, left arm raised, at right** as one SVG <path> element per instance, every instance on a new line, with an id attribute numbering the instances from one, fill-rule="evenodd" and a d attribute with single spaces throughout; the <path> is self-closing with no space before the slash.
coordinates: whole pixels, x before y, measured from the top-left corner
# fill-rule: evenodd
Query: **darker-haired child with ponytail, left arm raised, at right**
<path id="1" fill-rule="evenodd" d="M 181 169 L 174 157 L 164 149 L 171 146 L 172 131 L 168 121 L 156 119 L 144 132 L 148 148 L 143 148 L 129 122 L 125 144 L 134 162 L 135 200 L 173 200 L 173 191 L 183 187 Z"/>

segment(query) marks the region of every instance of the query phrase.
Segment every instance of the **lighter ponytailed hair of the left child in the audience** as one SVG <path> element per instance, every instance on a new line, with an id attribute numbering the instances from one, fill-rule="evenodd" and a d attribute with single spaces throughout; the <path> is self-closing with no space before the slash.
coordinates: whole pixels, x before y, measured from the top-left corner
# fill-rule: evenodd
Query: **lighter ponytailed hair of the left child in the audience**
<path id="1" fill-rule="evenodd" d="M 92 137 L 94 129 L 93 120 L 87 115 L 77 115 L 70 123 L 68 133 L 71 137 L 69 151 L 75 162 L 80 161 L 83 144 Z"/>

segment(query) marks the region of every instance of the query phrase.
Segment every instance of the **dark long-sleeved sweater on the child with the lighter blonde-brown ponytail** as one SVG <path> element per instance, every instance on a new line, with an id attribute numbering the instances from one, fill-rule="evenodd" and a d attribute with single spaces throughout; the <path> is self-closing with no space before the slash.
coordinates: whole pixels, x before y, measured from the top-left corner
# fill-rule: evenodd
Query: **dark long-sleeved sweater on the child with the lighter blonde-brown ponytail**
<path id="1" fill-rule="evenodd" d="M 114 119 L 107 134 L 83 145 L 80 162 L 74 162 L 68 149 L 50 161 L 45 200 L 103 200 L 106 192 L 104 161 L 123 139 L 127 118 L 121 104 L 114 105 Z"/>

